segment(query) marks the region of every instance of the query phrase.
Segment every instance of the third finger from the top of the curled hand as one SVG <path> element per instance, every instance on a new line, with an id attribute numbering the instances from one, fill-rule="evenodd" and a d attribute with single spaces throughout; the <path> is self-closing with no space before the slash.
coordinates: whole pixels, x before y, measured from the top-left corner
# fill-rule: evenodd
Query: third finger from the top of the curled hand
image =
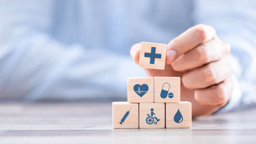
<path id="1" fill-rule="evenodd" d="M 193 69 L 184 74 L 181 80 L 188 89 L 203 89 L 219 84 L 229 75 L 232 75 L 232 68 L 225 59 Z"/>

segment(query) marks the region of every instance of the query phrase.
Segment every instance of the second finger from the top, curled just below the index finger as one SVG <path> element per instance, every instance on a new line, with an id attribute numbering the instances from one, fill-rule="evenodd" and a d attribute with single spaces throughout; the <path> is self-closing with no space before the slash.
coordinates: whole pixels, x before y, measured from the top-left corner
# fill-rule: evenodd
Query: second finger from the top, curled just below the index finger
<path id="1" fill-rule="evenodd" d="M 188 51 L 176 59 L 171 66 L 176 71 L 194 69 L 204 64 L 217 61 L 222 57 L 227 57 L 230 52 L 230 45 L 221 41 L 218 37 L 206 43 L 200 44 L 196 48 Z"/>

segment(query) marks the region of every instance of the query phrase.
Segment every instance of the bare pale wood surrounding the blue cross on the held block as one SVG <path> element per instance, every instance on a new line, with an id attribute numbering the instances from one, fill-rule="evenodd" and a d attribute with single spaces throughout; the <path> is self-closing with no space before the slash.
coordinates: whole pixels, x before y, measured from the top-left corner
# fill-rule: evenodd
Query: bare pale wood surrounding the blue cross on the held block
<path id="1" fill-rule="evenodd" d="M 161 59 L 155 59 L 155 64 L 150 64 L 150 58 L 144 57 L 145 53 L 151 53 L 151 48 L 155 47 L 155 53 L 161 54 Z M 141 42 L 139 67 L 148 69 L 165 69 L 166 44 Z"/>

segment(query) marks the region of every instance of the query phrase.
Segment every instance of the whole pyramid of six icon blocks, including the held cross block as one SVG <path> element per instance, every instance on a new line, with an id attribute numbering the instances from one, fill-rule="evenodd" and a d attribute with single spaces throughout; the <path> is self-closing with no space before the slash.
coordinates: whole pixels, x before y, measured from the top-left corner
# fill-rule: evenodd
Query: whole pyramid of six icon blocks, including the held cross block
<path id="1" fill-rule="evenodd" d="M 139 66 L 164 69 L 165 53 L 166 44 L 142 42 Z M 112 103 L 113 128 L 191 128 L 192 105 L 180 90 L 180 77 L 128 78 L 128 101 Z"/>

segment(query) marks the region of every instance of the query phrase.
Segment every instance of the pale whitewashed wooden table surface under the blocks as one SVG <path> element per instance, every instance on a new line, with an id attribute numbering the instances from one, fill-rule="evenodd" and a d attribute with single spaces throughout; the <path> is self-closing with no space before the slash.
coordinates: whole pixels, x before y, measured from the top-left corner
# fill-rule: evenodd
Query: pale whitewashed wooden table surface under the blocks
<path id="1" fill-rule="evenodd" d="M 0 144 L 256 144 L 256 109 L 185 129 L 112 129 L 111 102 L 0 102 Z"/>

